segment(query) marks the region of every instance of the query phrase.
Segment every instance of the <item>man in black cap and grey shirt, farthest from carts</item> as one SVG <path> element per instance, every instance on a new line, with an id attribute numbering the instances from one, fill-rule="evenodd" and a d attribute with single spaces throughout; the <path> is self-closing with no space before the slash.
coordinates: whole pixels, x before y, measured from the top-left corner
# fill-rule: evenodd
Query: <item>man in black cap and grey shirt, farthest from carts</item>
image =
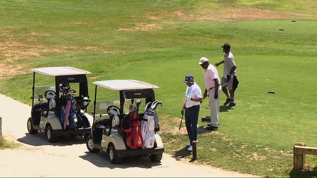
<path id="1" fill-rule="evenodd" d="M 226 87 L 223 87 L 223 91 L 226 94 L 226 107 L 233 107 L 236 105 L 234 101 L 234 91 L 238 87 L 239 81 L 237 79 L 236 64 L 234 62 L 233 55 L 230 51 L 230 44 L 226 43 L 221 46 L 225 54 L 225 59 L 215 65 L 218 67 L 220 64 L 224 64 L 224 75 L 221 78 L 221 85 L 227 83 Z M 229 93 L 228 93 L 229 90 Z"/>

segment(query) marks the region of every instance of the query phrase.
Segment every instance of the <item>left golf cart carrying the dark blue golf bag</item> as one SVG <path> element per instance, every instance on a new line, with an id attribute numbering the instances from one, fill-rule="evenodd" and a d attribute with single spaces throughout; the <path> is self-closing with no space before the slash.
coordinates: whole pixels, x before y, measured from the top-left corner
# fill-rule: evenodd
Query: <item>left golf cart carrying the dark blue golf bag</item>
<path id="1" fill-rule="evenodd" d="M 73 67 L 45 67 L 32 71 L 32 110 L 27 120 L 28 132 L 44 132 L 49 142 L 56 142 L 59 136 L 64 135 L 72 138 L 79 135 L 87 139 L 93 122 L 92 116 L 87 114 L 90 99 L 86 75 L 91 73 Z M 35 86 L 35 73 L 54 77 L 55 85 Z M 43 76 L 40 77 L 43 79 Z M 70 84 L 79 85 L 79 96 L 75 96 L 77 92 Z"/>

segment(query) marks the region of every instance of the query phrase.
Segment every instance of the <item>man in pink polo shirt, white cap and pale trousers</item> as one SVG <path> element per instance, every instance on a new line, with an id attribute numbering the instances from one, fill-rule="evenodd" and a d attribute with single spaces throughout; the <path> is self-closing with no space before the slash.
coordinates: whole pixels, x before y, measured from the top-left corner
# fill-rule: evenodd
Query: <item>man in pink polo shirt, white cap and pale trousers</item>
<path id="1" fill-rule="evenodd" d="M 215 66 L 209 63 L 207 58 L 201 58 L 198 62 L 204 69 L 204 83 L 205 83 L 205 92 L 204 98 L 209 95 L 210 103 L 210 126 L 212 129 L 218 129 L 219 121 L 219 107 L 220 107 L 220 94 L 221 94 L 221 85 L 220 79 L 218 76 L 218 71 Z"/>

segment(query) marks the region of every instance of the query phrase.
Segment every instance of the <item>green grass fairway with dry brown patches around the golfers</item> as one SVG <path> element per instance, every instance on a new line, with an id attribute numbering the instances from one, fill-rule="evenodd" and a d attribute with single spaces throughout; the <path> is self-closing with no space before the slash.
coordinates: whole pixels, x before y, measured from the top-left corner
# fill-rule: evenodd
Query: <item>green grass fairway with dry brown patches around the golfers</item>
<path id="1" fill-rule="evenodd" d="M 204 89 L 199 59 L 223 60 L 220 46 L 230 43 L 237 106 L 221 107 L 218 131 L 199 134 L 198 162 L 260 176 L 317 176 L 315 157 L 292 171 L 294 143 L 317 146 L 316 0 L 1 0 L 0 15 L 0 93 L 30 104 L 30 69 L 49 66 L 92 72 L 91 99 L 97 80 L 158 85 L 160 135 L 177 157 L 191 158 L 182 150 L 185 124 L 178 130 L 182 80 L 192 74 Z M 217 69 L 221 76 L 223 65 Z M 53 83 L 37 77 L 36 85 Z M 200 118 L 209 115 L 207 105 Z"/>

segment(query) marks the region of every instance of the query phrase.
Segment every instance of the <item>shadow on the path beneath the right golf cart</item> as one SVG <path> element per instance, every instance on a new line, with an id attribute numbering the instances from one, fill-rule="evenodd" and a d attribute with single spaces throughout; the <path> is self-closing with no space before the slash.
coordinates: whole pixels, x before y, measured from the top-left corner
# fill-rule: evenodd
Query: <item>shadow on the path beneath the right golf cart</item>
<path id="1" fill-rule="evenodd" d="M 102 167 L 102 168 L 109 168 L 109 169 L 114 169 L 114 168 L 121 168 L 121 169 L 126 169 L 126 168 L 132 168 L 132 167 L 138 167 L 138 168 L 143 168 L 143 169 L 149 169 L 154 166 L 160 166 L 160 162 L 151 162 L 150 158 L 148 157 L 141 157 L 141 158 L 136 158 L 136 157 L 125 157 L 123 158 L 121 164 L 112 164 L 107 156 L 107 154 L 103 152 L 99 152 L 97 154 L 90 153 L 90 152 L 85 152 L 86 155 L 80 156 L 79 158 L 82 158 L 84 160 L 87 160 L 94 164 L 97 167 Z"/>

